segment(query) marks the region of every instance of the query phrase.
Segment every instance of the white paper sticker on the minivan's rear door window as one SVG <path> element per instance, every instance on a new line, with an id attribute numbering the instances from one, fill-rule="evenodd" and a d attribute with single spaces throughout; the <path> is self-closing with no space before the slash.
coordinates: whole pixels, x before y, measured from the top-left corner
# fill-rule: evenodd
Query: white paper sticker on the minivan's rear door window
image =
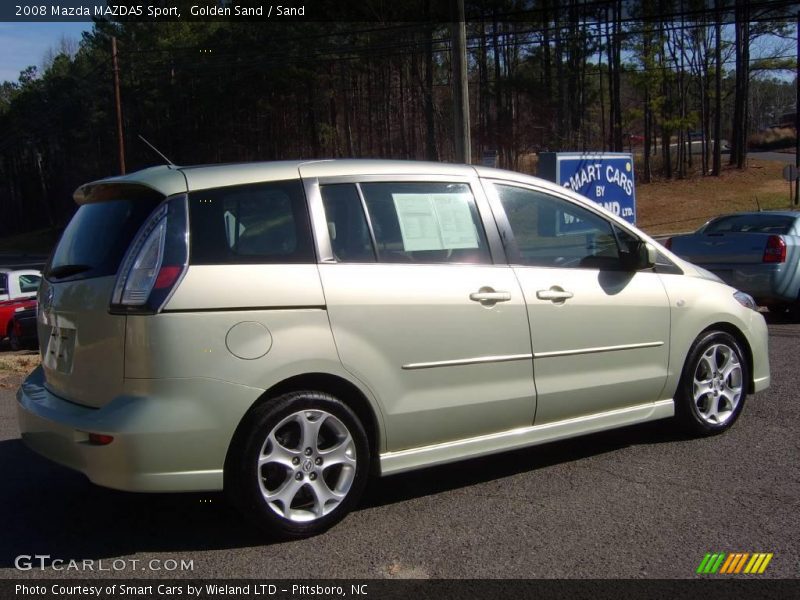
<path id="1" fill-rule="evenodd" d="M 407 252 L 478 247 L 470 194 L 392 194 L 392 199 Z"/>

